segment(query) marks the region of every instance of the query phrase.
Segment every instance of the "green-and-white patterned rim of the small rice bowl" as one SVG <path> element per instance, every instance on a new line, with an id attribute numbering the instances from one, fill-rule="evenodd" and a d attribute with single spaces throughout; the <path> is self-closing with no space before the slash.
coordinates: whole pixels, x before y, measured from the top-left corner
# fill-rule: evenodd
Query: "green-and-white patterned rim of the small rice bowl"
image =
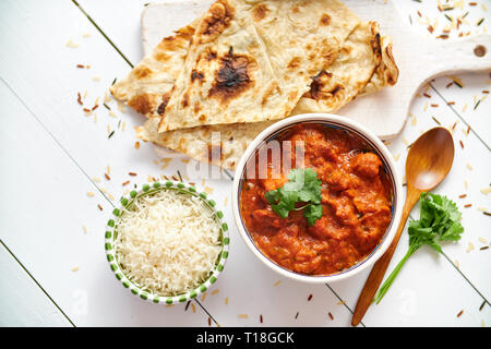
<path id="1" fill-rule="evenodd" d="M 176 190 L 199 197 L 213 212 L 213 215 L 217 219 L 217 222 L 219 224 L 220 227 L 221 250 L 218 254 L 218 260 L 215 266 L 209 272 L 208 277 L 203 282 L 201 282 L 200 286 L 197 286 L 196 288 L 177 296 L 159 296 L 136 286 L 125 276 L 116 258 L 116 243 L 115 243 L 115 240 L 117 238 L 116 222 L 117 219 L 120 217 L 123 208 L 131 205 L 136 197 L 151 195 L 161 190 Z M 166 180 L 164 183 L 160 183 L 159 181 L 145 183 L 141 185 L 140 190 L 135 188 L 127 196 L 122 196 L 120 198 L 119 207 L 116 207 L 112 210 L 111 218 L 106 224 L 104 248 L 106 251 L 106 260 L 109 263 L 110 269 L 124 288 L 129 289 L 132 294 L 135 294 L 143 300 L 149 301 L 152 303 L 170 305 L 190 301 L 199 297 L 201 293 L 206 292 L 209 289 L 209 287 L 212 287 L 212 285 L 216 282 L 229 256 L 229 243 L 230 237 L 228 233 L 228 225 L 224 220 L 224 213 L 217 209 L 216 202 L 209 198 L 206 192 L 199 192 L 194 185 L 187 185 L 181 181 Z"/>

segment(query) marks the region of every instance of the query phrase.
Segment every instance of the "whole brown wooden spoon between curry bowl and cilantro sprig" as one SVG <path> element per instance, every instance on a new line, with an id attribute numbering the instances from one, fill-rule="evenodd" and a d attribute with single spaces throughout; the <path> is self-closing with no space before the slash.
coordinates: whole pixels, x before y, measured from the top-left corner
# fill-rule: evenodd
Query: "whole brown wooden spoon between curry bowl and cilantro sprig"
<path id="1" fill-rule="evenodd" d="M 434 128 L 423 133 L 410 147 L 406 160 L 407 196 L 403 208 L 403 216 L 397 232 L 382 257 L 376 261 L 364 287 L 358 298 L 352 315 L 351 325 L 357 326 L 367 309 L 372 303 L 388 263 L 399 241 L 415 204 L 423 192 L 439 185 L 448 174 L 454 161 L 454 141 L 452 134 L 444 128 Z"/>

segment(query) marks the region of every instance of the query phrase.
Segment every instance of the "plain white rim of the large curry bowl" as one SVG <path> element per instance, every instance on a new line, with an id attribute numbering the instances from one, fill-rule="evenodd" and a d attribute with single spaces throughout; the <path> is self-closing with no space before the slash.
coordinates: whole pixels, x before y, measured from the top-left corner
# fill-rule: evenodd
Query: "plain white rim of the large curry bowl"
<path id="1" fill-rule="evenodd" d="M 391 219 L 391 224 L 387 227 L 384 237 L 382 238 L 382 242 L 362 261 L 359 261 L 357 264 L 351 266 L 348 269 L 342 270 L 337 274 L 332 275 L 322 275 L 322 276 L 311 276 L 306 274 L 299 274 L 287 268 L 279 266 L 278 264 L 271 261 L 268 257 L 263 254 L 260 249 L 255 245 L 250 238 L 249 232 L 247 231 L 242 217 L 240 214 L 239 207 L 239 189 L 241 188 L 242 182 L 242 173 L 244 171 L 244 167 L 251 155 L 264 144 L 264 140 L 267 140 L 274 133 L 291 127 L 292 124 L 301 123 L 301 122 L 319 122 L 324 124 L 335 124 L 336 127 L 344 129 L 348 132 L 359 133 L 362 135 L 369 143 L 376 148 L 378 153 L 383 157 L 383 161 L 388 167 L 390 172 L 392 173 L 391 179 L 393 182 L 393 216 Z M 388 148 L 383 144 L 383 142 L 370 130 L 362 127 L 358 122 L 347 119 L 346 117 L 340 117 L 333 113 L 304 113 L 298 115 L 295 117 L 289 117 L 287 119 L 275 122 L 270 125 L 265 130 L 263 130 L 248 146 L 244 154 L 240 158 L 238 166 L 236 167 L 236 172 L 233 176 L 233 184 L 232 184 L 232 213 L 236 226 L 239 230 L 240 237 L 244 241 L 246 245 L 249 250 L 267 267 L 279 273 L 283 276 L 286 276 L 290 279 L 295 279 L 298 281 L 310 282 L 310 284 L 325 284 L 332 281 L 339 281 L 349 277 L 352 277 L 366 268 L 372 266 L 388 249 L 392 241 L 394 240 L 394 236 L 398 228 L 398 224 L 400 221 L 402 212 L 403 212 L 403 185 L 400 182 L 400 174 L 395 166 L 395 160 L 388 151 Z"/>

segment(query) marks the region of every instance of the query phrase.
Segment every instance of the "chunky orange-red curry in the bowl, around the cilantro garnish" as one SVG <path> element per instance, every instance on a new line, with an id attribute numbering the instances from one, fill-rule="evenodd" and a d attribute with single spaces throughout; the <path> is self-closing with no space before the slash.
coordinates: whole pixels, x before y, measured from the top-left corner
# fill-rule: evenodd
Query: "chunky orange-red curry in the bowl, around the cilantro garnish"
<path id="1" fill-rule="evenodd" d="M 392 215 L 391 185 L 379 156 L 345 131 L 322 125 L 296 125 L 278 141 L 291 141 L 294 149 L 303 142 L 304 167 L 322 181 L 323 215 L 311 227 L 303 210 L 282 218 L 264 194 L 288 178 L 247 178 L 241 215 L 255 244 L 278 265 L 308 275 L 334 274 L 363 260 L 381 242 Z M 271 156 L 268 168 L 270 161 Z"/>

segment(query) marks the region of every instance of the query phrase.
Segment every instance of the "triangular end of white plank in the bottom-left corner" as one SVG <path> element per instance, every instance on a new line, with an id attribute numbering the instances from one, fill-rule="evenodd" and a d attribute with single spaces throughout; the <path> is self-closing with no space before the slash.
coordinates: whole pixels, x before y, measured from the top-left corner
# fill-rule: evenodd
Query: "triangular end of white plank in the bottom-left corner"
<path id="1" fill-rule="evenodd" d="M 0 265 L 1 327 L 72 326 L 3 245 L 0 245 Z"/>

